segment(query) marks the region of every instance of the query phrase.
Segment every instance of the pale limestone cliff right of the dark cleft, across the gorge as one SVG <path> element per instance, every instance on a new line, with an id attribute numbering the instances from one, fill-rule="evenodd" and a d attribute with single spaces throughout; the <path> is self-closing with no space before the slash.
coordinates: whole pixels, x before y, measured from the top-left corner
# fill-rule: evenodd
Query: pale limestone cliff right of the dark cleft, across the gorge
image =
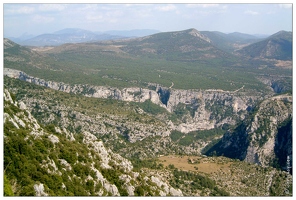
<path id="1" fill-rule="evenodd" d="M 248 107 L 253 106 L 250 99 L 256 96 L 238 96 L 236 93 L 222 90 L 171 90 L 167 109 L 175 111 L 180 105 L 191 111 L 178 130 L 189 132 L 200 129 L 212 129 L 224 123 L 235 124 L 244 119 Z"/>

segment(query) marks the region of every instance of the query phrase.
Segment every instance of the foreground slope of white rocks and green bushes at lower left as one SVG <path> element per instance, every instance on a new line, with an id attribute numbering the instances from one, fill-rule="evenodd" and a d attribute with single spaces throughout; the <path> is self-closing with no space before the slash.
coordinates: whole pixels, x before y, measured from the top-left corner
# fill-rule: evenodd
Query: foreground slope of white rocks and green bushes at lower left
<path id="1" fill-rule="evenodd" d="M 21 196 L 137 196 L 143 188 L 142 196 L 182 196 L 158 174 L 134 171 L 129 160 L 105 148 L 93 134 L 77 136 L 40 125 L 6 89 L 4 168 L 14 194 Z"/>

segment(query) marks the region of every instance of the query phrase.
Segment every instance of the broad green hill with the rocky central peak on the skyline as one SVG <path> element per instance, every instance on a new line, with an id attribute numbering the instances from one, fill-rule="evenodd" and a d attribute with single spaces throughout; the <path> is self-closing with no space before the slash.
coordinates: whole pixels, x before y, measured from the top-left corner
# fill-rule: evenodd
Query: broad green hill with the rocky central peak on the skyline
<path id="1" fill-rule="evenodd" d="M 168 60 L 195 61 L 230 56 L 214 46 L 196 29 L 163 32 L 121 42 L 121 49 L 133 55 L 146 55 Z"/>

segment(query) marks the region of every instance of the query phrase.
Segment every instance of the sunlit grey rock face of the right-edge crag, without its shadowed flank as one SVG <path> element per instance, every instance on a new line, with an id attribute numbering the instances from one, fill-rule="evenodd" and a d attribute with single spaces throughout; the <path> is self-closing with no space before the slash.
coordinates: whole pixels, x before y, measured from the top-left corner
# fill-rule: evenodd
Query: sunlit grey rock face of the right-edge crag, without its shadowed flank
<path id="1" fill-rule="evenodd" d="M 283 147 L 276 146 L 280 139 L 278 134 L 283 134 L 283 137 L 289 134 L 289 131 L 279 132 L 279 129 L 291 120 L 292 96 L 280 95 L 263 101 L 246 130 L 250 135 L 250 145 L 244 160 L 262 166 L 270 165 L 276 159 L 275 152 Z M 291 144 L 291 139 L 286 137 L 286 142 Z"/>

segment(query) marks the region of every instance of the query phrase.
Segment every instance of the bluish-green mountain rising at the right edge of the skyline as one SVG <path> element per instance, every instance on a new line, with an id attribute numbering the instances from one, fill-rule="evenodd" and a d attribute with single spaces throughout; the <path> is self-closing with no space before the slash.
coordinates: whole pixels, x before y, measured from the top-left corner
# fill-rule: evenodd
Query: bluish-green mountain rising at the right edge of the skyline
<path id="1" fill-rule="evenodd" d="M 280 31 L 262 41 L 242 48 L 238 53 L 252 58 L 291 60 L 292 32 Z"/>

